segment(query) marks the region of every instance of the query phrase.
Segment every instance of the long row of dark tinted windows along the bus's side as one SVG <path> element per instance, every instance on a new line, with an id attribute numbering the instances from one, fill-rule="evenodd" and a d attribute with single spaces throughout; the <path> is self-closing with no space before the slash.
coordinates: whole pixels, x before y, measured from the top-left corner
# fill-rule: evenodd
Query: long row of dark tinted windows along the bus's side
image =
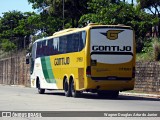
<path id="1" fill-rule="evenodd" d="M 86 32 L 37 42 L 36 58 L 81 51 L 85 46 Z"/>

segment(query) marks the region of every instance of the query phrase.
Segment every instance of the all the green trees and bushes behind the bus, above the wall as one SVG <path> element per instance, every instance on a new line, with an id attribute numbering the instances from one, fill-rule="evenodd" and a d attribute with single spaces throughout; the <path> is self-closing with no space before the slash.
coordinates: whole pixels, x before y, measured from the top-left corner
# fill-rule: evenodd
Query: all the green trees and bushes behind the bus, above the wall
<path id="1" fill-rule="evenodd" d="M 63 0 L 28 2 L 38 13 L 8 11 L 0 17 L 0 54 L 27 49 L 35 39 L 91 22 L 131 26 L 136 35 L 137 60 L 160 60 L 160 30 L 153 30 L 160 28 L 159 0 L 132 0 L 130 4 L 127 0 L 64 0 L 64 7 Z"/>

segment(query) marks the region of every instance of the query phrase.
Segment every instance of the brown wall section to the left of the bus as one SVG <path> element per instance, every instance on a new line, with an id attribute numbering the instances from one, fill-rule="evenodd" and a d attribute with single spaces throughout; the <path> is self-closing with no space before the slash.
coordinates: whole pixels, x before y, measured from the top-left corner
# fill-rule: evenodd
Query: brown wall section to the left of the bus
<path id="1" fill-rule="evenodd" d="M 29 65 L 25 63 L 25 53 L 12 53 L 0 59 L 0 84 L 30 86 Z"/>

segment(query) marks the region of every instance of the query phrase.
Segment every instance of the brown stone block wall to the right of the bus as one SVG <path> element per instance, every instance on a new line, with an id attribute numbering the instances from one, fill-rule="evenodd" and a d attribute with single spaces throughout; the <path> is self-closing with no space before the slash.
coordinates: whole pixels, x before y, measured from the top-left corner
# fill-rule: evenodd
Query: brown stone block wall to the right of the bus
<path id="1" fill-rule="evenodd" d="M 160 62 L 137 62 L 135 90 L 160 94 Z"/>

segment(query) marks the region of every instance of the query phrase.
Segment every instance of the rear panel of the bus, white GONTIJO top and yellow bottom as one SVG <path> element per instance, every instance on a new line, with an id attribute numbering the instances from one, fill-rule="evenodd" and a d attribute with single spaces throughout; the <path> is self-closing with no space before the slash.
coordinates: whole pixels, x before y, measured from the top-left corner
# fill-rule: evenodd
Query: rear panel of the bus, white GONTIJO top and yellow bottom
<path id="1" fill-rule="evenodd" d="M 94 27 L 90 30 L 92 80 L 131 80 L 133 30 Z"/>

